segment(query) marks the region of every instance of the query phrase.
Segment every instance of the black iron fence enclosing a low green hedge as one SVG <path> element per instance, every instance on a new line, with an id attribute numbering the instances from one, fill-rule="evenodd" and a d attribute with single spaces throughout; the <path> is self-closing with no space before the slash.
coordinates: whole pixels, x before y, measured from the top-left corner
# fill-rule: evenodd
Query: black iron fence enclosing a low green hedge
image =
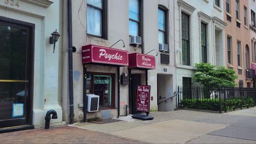
<path id="1" fill-rule="evenodd" d="M 178 87 L 176 105 L 178 109 L 228 111 L 256 105 L 256 88 L 203 88 Z"/>

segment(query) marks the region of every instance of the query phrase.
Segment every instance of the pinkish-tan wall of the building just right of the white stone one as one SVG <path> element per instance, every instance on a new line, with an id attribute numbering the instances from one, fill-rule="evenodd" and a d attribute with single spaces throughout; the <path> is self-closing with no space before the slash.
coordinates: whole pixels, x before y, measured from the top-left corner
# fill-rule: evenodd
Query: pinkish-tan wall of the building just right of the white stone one
<path id="1" fill-rule="evenodd" d="M 226 7 L 226 2 L 224 1 L 224 8 Z M 245 21 L 243 18 L 243 8 L 247 8 L 247 26 L 245 26 Z M 226 45 L 226 67 L 230 69 L 234 69 L 236 74 L 238 75 L 238 69 L 242 69 L 242 75 L 238 75 L 238 79 L 236 83 L 238 84 L 239 80 L 243 80 L 243 87 L 247 87 L 246 76 L 245 76 L 245 48 L 246 45 L 249 46 L 249 55 L 251 57 L 251 39 L 249 34 L 249 7 L 248 0 L 240 1 L 240 28 L 236 26 L 236 3 L 235 1 L 231 1 L 230 5 L 231 9 L 231 22 L 226 20 L 226 9 L 224 9 L 224 21 L 228 23 L 228 26 L 225 28 L 225 45 Z M 228 50 L 227 50 L 227 35 L 232 37 L 232 64 L 228 64 Z M 237 40 L 241 41 L 241 67 L 237 66 Z M 252 59 L 250 58 L 250 61 Z M 251 61 L 252 62 L 252 61 Z M 250 65 L 251 67 L 251 65 Z"/>

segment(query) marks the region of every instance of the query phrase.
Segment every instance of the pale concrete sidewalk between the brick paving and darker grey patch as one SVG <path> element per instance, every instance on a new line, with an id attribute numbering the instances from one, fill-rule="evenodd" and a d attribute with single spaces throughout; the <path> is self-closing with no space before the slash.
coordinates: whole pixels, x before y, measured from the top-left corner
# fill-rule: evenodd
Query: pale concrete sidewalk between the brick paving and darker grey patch
<path id="1" fill-rule="evenodd" d="M 231 113 L 226 113 L 228 114 L 226 115 L 187 110 L 152 112 L 150 115 L 155 117 L 152 121 L 141 121 L 127 116 L 120 117 L 119 120 L 123 120 L 120 122 L 79 123 L 73 127 L 101 131 L 150 143 L 256 143 L 256 141 L 208 135 L 238 122 L 254 118 L 254 108 L 233 112 L 236 115 Z"/>

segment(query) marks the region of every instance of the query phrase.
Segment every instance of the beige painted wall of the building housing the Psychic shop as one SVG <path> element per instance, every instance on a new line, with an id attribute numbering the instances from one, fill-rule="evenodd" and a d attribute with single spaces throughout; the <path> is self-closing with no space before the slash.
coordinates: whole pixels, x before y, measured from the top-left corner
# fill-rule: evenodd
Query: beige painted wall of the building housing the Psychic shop
<path id="1" fill-rule="evenodd" d="M 147 53 L 150 50 L 158 50 L 158 4 L 165 5 L 165 7 L 170 9 L 170 35 L 169 35 L 169 44 L 170 44 L 170 64 L 161 64 L 160 63 L 160 53 L 158 52 L 158 58 L 156 58 L 156 69 L 148 71 L 148 85 L 151 85 L 151 95 L 154 97 L 154 100 L 150 101 L 150 110 L 157 111 L 157 74 L 165 75 L 175 75 L 176 71 L 174 68 L 174 20 L 173 20 L 173 2 L 167 0 L 158 0 L 158 1 L 145 1 L 143 2 L 143 41 L 144 41 L 144 52 Z M 66 8 L 66 3 L 63 5 L 63 8 Z M 80 11 L 79 11 L 80 8 Z M 63 9 L 63 31 L 67 29 L 67 19 L 66 19 L 66 9 Z M 134 50 L 135 47 L 129 46 L 129 1 L 120 1 L 120 0 L 108 0 L 108 40 L 91 37 L 86 35 L 86 0 L 76 0 L 72 1 L 72 22 L 73 22 L 73 46 L 77 47 L 77 52 L 73 53 L 73 70 L 74 75 L 78 76 L 79 79 L 73 79 L 74 81 L 74 112 L 75 112 L 75 121 L 82 121 L 82 118 L 79 117 L 82 115 L 83 111 L 78 107 L 78 104 L 83 103 L 83 65 L 82 65 L 82 46 L 88 44 L 95 44 L 100 46 L 109 47 L 113 45 L 119 39 L 124 40 L 125 50 L 129 53 L 141 52 L 141 49 L 138 48 Z M 80 17 L 80 20 L 79 20 Z M 81 21 L 81 22 L 80 22 Z M 67 33 L 65 33 L 67 35 Z M 63 104 L 63 116 L 66 121 L 69 116 L 69 101 L 68 101 L 68 41 L 67 36 L 63 40 L 63 81 L 62 81 L 62 104 Z M 122 49 L 123 44 L 118 43 L 113 46 L 115 49 Z M 155 51 L 150 52 L 148 55 L 155 56 Z M 164 72 L 164 68 L 167 69 L 167 72 Z M 95 66 L 88 64 L 88 71 L 97 71 L 97 72 L 107 72 L 107 73 L 117 73 L 117 68 L 114 67 L 104 67 L 104 66 Z M 125 68 L 126 73 L 128 73 L 127 68 Z M 141 81 L 145 81 L 144 71 L 132 70 L 132 74 L 141 73 Z M 123 73 L 123 68 L 120 68 L 120 73 Z M 117 75 L 116 75 L 117 78 Z M 116 79 L 117 80 L 117 79 Z M 145 82 L 144 82 L 145 83 Z M 141 83 L 141 84 L 144 84 Z M 175 77 L 172 81 L 173 85 L 170 85 L 171 89 L 176 88 Z M 115 101 L 117 107 L 117 81 L 115 89 Z M 124 102 L 125 105 L 129 105 L 128 97 L 128 85 L 120 85 L 120 102 Z M 170 93 L 170 96 L 172 93 Z M 172 103 L 171 103 L 172 104 Z M 173 103 L 174 104 L 174 103 Z M 125 105 L 120 105 L 120 115 L 125 115 Z M 100 111 L 97 113 L 88 114 L 88 118 L 95 117 L 104 117 L 106 113 L 109 113 L 109 116 L 117 117 L 117 109 Z"/>

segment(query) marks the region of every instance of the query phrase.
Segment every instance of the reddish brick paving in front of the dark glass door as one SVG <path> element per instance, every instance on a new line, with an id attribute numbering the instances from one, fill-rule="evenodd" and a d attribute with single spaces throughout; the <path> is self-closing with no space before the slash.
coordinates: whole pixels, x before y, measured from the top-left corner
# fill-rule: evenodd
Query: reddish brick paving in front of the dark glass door
<path id="1" fill-rule="evenodd" d="M 0 134 L 0 143 L 146 143 L 69 126 Z"/>

